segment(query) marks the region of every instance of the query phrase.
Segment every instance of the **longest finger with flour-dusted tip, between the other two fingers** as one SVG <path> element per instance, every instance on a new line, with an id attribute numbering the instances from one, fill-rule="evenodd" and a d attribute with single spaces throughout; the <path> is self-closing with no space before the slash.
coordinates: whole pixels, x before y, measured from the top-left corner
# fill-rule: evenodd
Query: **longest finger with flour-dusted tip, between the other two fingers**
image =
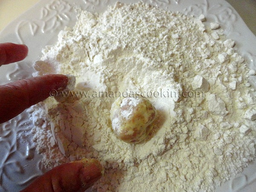
<path id="1" fill-rule="evenodd" d="M 68 82 L 65 75 L 51 74 L 0 85 L 0 123 L 43 101 L 51 90 L 64 90 Z"/>

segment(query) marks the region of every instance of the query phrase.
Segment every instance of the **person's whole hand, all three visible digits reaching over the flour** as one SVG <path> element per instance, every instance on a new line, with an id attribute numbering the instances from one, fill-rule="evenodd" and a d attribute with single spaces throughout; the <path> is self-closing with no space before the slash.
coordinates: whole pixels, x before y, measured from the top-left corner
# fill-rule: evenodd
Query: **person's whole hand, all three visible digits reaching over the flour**
<path id="1" fill-rule="evenodd" d="M 25 45 L 0 44 L 0 65 L 23 60 L 28 53 Z M 0 123 L 43 101 L 51 90 L 63 90 L 67 76 L 50 74 L 0 85 Z M 82 159 L 57 166 L 38 177 L 22 192 L 76 192 L 89 188 L 102 176 L 96 159 Z"/>

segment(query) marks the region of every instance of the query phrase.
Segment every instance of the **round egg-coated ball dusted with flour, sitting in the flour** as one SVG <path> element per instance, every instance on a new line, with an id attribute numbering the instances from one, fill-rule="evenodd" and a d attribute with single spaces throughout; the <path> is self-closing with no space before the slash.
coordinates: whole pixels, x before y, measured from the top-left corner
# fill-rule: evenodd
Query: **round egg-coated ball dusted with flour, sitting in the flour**
<path id="1" fill-rule="evenodd" d="M 153 128 L 156 109 L 143 97 L 119 97 L 111 107 L 112 129 L 127 143 L 140 143 Z"/>

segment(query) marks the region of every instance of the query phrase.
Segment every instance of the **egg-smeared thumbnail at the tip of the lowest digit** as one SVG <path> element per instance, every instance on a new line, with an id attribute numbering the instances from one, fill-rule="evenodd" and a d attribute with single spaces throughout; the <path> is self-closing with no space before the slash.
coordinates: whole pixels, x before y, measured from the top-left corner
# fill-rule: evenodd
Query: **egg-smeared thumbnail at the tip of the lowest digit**
<path id="1" fill-rule="evenodd" d="M 80 162 L 83 164 L 83 168 L 80 170 L 79 178 L 83 188 L 89 188 L 99 180 L 103 175 L 103 168 L 97 159 L 81 159 Z"/>

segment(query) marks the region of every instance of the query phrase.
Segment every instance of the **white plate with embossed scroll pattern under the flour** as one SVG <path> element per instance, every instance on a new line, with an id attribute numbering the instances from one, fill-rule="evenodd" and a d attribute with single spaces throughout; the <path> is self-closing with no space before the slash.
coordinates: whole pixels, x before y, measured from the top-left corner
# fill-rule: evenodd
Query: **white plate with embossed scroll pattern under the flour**
<path id="1" fill-rule="evenodd" d="M 241 17 L 224 0 L 145 0 L 163 9 L 180 11 L 198 16 L 204 14 L 207 22 L 218 22 L 227 38 L 236 41 L 236 49 L 247 60 L 249 67 L 256 69 L 256 37 L 247 28 Z M 76 3 L 74 3 L 76 2 Z M 102 12 L 115 0 L 41 0 L 28 12 L 13 21 L 0 33 L 0 42 L 26 44 L 28 57 L 21 62 L 0 68 L 0 84 L 30 77 L 32 63 L 38 60 L 41 49 L 57 40 L 64 26 L 73 26 L 78 9 Z M 121 0 L 135 3 L 136 0 Z M 253 81 L 253 80 L 252 80 Z M 255 79 L 254 79 L 255 82 Z M 31 141 L 32 123 L 26 113 L 0 125 L 0 191 L 19 191 L 33 178 L 44 172 L 41 156 Z M 216 191 L 246 191 L 256 189 L 256 161 L 251 163 L 236 178 L 224 183 Z"/>

